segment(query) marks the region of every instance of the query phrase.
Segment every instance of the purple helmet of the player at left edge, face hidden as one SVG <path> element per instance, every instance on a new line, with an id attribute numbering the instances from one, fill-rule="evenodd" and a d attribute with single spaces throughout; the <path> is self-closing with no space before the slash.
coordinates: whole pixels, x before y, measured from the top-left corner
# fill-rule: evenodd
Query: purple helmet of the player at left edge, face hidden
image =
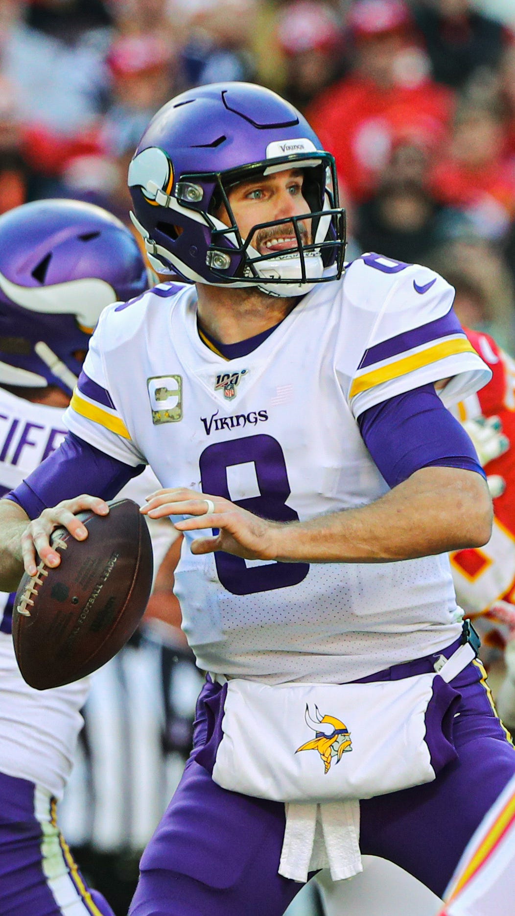
<path id="1" fill-rule="evenodd" d="M 151 286 L 134 235 L 91 203 L 0 216 L 0 385 L 70 394 L 102 309 Z"/>

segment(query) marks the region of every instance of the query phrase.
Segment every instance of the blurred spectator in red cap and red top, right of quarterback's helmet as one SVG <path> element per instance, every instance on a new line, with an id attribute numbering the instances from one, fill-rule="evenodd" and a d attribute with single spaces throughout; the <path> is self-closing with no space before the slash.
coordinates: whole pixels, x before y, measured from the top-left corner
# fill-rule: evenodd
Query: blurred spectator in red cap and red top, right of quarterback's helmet
<path id="1" fill-rule="evenodd" d="M 308 118 L 335 155 L 344 190 L 361 202 L 376 187 L 399 129 L 442 136 L 454 97 L 428 76 L 402 0 L 358 0 L 348 26 L 353 69 L 317 98 Z"/>

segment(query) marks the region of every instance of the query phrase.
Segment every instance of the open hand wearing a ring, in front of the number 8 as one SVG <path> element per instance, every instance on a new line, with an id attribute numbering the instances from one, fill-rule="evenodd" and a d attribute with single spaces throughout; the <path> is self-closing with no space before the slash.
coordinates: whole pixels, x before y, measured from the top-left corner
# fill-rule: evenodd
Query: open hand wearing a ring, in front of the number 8
<path id="1" fill-rule="evenodd" d="M 225 551 L 245 560 L 277 559 L 277 538 L 284 527 L 280 522 L 252 515 L 222 496 L 187 488 L 157 490 L 146 499 L 147 504 L 140 511 L 150 518 L 191 516 L 174 522 L 178 531 L 219 529 L 216 537 L 194 540 L 192 553 Z"/>

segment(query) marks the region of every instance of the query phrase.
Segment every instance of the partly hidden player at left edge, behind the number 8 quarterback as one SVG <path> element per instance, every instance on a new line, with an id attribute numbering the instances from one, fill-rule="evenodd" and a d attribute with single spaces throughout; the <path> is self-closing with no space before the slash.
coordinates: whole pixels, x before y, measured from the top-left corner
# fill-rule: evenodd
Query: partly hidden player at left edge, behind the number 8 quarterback
<path id="1" fill-rule="evenodd" d="M 43 201 L 0 218 L 2 495 L 63 441 L 63 409 L 102 309 L 147 286 L 133 235 L 100 207 Z M 0 593 L 0 912 L 112 914 L 56 820 L 88 681 L 28 687 L 10 635 L 13 599 Z"/>

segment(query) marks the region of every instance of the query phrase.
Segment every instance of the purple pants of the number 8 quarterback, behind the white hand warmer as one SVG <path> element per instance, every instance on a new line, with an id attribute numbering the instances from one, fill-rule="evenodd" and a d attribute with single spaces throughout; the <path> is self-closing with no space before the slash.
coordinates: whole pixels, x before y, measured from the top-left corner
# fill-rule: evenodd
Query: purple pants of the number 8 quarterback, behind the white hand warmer
<path id="1" fill-rule="evenodd" d="M 365 680 L 433 671 L 435 660 L 428 656 Z M 515 750 L 493 709 L 482 666 L 471 662 L 452 686 L 461 693 L 453 729 L 458 759 L 433 782 L 360 802 L 361 852 L 390 859 L 439 897 L 470 836 L 515 773 Z M 284 805 L 220 789 L 195 759 L 209 738 L 219 692 L 208 681 L 198 698 L 195 748 L 142 857 L 130 916 L 282 916 L 301 888 L 277 874 Z"/>

